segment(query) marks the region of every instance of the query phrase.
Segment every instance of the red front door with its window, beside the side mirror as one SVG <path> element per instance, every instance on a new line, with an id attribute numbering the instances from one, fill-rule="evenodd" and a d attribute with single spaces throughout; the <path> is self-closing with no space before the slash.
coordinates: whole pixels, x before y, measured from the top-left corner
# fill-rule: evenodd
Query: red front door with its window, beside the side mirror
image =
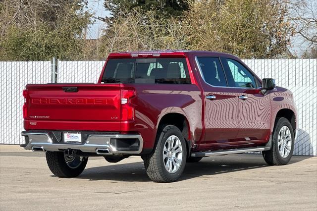
<path id="1" fill-rule="evenodd" d="M 270 134 L 271 106 L 263 95 L 259 79 L 238 60 L 221 58 L 228 83 L 239 89 L 239 132 L 237 139 L 246 144 L 265 143 Z"/>

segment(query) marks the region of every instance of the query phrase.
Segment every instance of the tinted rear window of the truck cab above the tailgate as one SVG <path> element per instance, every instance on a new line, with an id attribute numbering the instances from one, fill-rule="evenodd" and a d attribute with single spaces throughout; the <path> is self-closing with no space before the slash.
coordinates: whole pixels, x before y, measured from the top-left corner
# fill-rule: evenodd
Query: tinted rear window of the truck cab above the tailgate
<path id="1" fill-rule="evenodd" d="M 109 59 L 102 83 L 190 84 L 185 58 Z"/>

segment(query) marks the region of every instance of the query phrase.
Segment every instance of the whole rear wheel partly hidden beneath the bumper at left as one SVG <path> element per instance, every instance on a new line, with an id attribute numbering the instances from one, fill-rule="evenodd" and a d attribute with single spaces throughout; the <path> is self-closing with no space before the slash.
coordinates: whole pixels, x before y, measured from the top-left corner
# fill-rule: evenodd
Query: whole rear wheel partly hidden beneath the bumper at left
<path id="1" fill-rule="evenodd" d="M 88 157 L 69 156 L 63 152 L 46 152 L 46 161 L 52 173 L 58 177 L 76 177 L 86 167 Z"/>

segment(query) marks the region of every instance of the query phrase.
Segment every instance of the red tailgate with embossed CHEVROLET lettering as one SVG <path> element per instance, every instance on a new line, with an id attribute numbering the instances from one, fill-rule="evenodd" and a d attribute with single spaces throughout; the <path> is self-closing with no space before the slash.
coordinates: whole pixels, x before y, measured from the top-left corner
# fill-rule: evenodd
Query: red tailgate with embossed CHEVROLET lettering
<path id="1" fill-rule="evenodd" d="M 27 120 L 120 121 L 119 84 L 29 84 Z"/>

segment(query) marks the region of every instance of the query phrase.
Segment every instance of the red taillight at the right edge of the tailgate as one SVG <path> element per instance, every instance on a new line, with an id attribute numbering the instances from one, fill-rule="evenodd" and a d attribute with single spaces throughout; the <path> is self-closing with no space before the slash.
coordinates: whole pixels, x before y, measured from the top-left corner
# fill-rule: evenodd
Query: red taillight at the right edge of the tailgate
<path id="1" fill-rule="evenodd" d="M 130 103 L 134 96 L 134 90 L 121 90 L 121 121 L 134 119 L 134 107 Z"/>

